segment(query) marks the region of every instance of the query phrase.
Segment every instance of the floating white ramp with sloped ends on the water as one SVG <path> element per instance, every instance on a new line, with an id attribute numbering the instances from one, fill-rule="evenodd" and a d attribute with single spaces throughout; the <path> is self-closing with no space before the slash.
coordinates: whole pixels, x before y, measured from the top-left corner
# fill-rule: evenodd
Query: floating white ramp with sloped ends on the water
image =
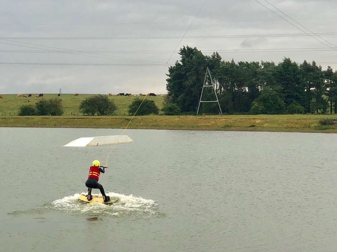
<path id="1" fill-rule="evenodd" d="M 133 142 L 133 140 L 126 135 L 92 136 L 92 137 L 81 137 L 81 138 L 72 140 L 70 143 L 64 146 L 85 147 L 85 146 L 97 146 L 97 145 L 124 144 L 124 143 L 131 143 L 131 142 Z"/>

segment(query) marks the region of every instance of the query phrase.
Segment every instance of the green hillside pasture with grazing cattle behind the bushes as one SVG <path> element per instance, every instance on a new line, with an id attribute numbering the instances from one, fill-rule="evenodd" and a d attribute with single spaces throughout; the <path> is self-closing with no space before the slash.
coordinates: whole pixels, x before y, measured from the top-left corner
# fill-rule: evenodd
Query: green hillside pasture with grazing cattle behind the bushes
<path id="1" fill-rule="evenodd" d="M 28 94 L 25 94 L 28 96 Z M 57 94 L 43 94 L 44 99 L 50 98 L 59 98 L 62 99 L 62 105 L 64 109 L 64 115 L 81 115 L 79 113 L 80 103 L 87 97 L 93 94 L 79 94 L 78 96 L 74 96 L 74 94 L 61 94 L 61 96 L 57 96 Z M 0 116 L 14 116 L 18 114 L 18 109 L 21 105 L 26 104 L 35 104 L 41 97 L 36 98 L 35 94 L 32 94 L 31 97 L 17 97 L 16 94 L 4 94 L 2 95 L 3 99 L 0 99 Z M 144 99 L 144 96 L 132 95 L 132 96 L 117 96 L 112 95 L 108 96 L 109 99 L 113 99 L 115 104 L 117 105 L 116 115 L 124 116 L 128 115 L 128 105 L 132 103 L 132 101 L 138 97 L 140 99 Z M 159 109 L 163 106 L 164 96 L 147 96 L 146 99 L 153 100 Z"/>

